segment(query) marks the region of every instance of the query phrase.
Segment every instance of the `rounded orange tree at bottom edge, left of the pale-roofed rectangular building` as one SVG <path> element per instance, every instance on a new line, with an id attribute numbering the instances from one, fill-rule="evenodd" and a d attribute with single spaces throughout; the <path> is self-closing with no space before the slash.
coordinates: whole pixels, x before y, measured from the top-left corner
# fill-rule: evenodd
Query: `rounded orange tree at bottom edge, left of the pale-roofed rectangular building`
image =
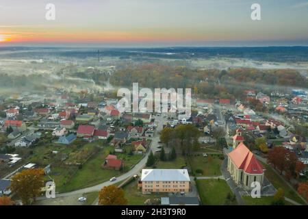
<path id="1" fill-rule="evenodd" d="M 125 192 L 116 185 L 108 185 L 99 192 L 99 205 L 127 205 Z"/>

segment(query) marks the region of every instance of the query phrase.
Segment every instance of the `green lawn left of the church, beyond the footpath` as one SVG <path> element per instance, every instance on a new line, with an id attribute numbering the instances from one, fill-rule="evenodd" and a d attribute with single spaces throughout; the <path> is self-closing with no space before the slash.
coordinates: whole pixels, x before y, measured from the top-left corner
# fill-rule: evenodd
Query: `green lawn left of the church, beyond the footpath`
<path id="1" fill-rule="evenodd" d="M 190 159 L 190 166 L 192 171 L 196 174 L 196 176 L 220 176 L 220 166 L 222 164 L 222 159 L 218 157 L 211 157 L 208 155 L 207 157 L 201 156 L 192 156 Z M 203 173 L 196 173 L 196 170 L 202 170 Z"/>

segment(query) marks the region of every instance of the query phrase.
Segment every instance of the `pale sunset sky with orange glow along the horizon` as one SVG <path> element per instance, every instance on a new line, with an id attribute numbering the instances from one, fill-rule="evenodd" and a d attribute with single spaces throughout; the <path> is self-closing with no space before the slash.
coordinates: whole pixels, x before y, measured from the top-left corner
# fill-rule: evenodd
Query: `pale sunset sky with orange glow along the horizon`
<path id="1" fill-rule="evenodd" d="M 0 0 L 8 45 L 308 46 L 308 0 Z"/>

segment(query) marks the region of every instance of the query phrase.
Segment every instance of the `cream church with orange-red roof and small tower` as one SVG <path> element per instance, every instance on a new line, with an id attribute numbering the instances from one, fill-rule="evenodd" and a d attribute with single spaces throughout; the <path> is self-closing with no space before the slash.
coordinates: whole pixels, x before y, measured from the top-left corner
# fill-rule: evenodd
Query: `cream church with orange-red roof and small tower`
<path id="1" fill-rule="evenodd" d="M 235 183 L 245 190 L 252 190 L 251 183 L 257 181 L 262 185 L 264 168 L 243 142 L 242 130 L 237 129 L 233 136 L 233 149 L 228 153 L 227 169 Z"/>

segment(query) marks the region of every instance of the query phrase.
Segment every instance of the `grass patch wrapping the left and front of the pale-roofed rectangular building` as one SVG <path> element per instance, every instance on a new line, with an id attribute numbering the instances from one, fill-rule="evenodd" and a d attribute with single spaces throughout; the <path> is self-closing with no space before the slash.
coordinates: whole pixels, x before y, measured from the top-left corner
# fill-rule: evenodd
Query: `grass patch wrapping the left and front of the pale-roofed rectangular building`
<path id="1" fill-rule="evenodd" d="M 127 198 L 127 205 L 144 205 L 144 202 L 149 198 L 160 198 L 166 197 L 168 194 L 164 193 L 153 193 L 153 194 L 142 194 L 141 190 L 138 190 L 137 180 L 123 187 L 125 191 L 125 198 Z"/>

